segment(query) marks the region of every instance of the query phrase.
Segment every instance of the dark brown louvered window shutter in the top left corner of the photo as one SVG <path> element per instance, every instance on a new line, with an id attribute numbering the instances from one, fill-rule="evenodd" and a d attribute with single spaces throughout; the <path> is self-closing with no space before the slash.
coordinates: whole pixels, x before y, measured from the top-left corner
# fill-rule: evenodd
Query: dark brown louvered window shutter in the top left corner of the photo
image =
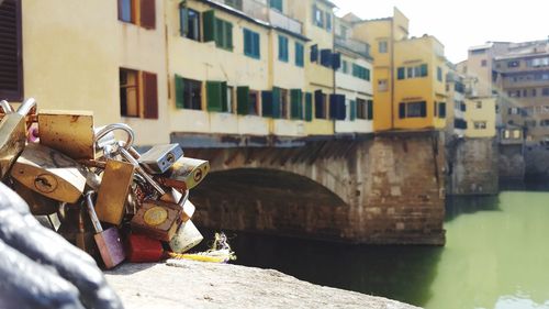
<path id="1" fill-rule="evenodd" d="M 4 0 L 0 4 L 0 100 L 23 99 L 21 2 Z"/>

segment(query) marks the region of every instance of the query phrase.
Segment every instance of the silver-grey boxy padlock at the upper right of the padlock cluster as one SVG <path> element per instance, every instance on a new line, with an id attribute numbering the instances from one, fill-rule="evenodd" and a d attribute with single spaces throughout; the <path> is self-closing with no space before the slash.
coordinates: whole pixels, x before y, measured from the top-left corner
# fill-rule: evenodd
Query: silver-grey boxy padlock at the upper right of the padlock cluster
<path id="1" fill-rule="evenodd" d="M 163 174 L 183 156 L 179 144 L 155 145 L 141 155 L 138 162 L 150 174 Z"/>

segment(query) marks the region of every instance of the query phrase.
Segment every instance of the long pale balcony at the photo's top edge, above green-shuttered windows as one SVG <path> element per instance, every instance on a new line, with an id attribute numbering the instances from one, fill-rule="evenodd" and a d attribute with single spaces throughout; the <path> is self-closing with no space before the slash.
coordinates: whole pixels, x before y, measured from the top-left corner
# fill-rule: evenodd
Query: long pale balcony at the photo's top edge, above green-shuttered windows
<path id="1" fill-rule="evenodd" d="M 302 34 L 303 25 L 300 21 L 284 15 L 278 10 L 269 8 L 266 0 L 211 0 L 221 4 L 232 7 L 244 14 L 270 23 L 272 26 L 280 27 L 296 34 Z"/>

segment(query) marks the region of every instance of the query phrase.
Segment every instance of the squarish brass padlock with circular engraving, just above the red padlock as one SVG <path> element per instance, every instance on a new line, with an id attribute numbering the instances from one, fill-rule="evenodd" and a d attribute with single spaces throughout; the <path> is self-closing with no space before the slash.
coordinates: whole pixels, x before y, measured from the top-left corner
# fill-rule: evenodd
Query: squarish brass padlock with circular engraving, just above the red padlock
<path id="1" fill-rule="evenodd" d="M 145 200 L 132 218 L 132 230 L 150 238 L 169 242 L 181 225 L 182 209 L 178 205 Z"/>

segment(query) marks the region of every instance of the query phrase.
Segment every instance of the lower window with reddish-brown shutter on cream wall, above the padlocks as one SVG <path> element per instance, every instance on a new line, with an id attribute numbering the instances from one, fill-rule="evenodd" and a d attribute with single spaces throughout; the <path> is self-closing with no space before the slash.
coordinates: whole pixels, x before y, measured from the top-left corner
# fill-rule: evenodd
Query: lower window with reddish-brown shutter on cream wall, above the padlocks
<path id="1" fill-rule="evenodd" d="M 120 114 L 158 119 L 156 74 L 120 68 Z M 143 102 L 139 100 L 143 98 Z"/>

